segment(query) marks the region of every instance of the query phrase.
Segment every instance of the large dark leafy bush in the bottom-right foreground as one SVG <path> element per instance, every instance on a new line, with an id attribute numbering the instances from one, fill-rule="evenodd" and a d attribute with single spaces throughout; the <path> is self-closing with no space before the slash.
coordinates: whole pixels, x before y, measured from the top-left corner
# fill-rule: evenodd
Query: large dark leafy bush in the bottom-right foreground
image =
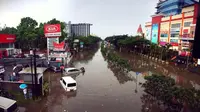
<path id="1" fill-rule="evenodd" d="M 175 85 L 175 80 L 163 75 L 145 76 L 142 84 L 145 92 L 155 97 L 160 105 L 167 106 L 168 111 L 180 112 L 189 109 L 191 112 L 200 110 L 200 90 L 188 89 Z"/>

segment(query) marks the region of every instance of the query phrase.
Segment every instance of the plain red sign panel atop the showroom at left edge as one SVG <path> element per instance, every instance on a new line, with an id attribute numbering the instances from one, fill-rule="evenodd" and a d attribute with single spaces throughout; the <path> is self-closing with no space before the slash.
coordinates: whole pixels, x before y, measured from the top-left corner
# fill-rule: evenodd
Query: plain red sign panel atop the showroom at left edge
<path id="1" fill-rule="evenodd" d="M 16 41 L 15 35 L 0 34 L 0 43 L 14 43 Z"/>

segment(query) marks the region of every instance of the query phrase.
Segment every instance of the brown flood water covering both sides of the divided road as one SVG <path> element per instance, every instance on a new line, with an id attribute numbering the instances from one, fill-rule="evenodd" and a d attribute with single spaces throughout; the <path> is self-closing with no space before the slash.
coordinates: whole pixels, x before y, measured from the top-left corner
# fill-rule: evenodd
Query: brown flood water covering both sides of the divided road
<path id="1" fill-rule="evenodd" d="M 176 81 L 178 84 L 198 88 L 197 80 L 200 77 L 196 74 L 171 70 L 174 68 L 137 56 L 129 57 L 126 54 L 123 56 L 132 59 L 130 62 L 135 67 L 135 72 L 119 73 L 116 67 L 105 61 L 100 49 L 79 53 L 74 58 L 73 66 L 84 67 L 86 72 L 73 76 L 77 81 L 76 92 L 64 91 L 59 82 L 60 73 L 48 73 L 51 82 L 50 94 L 43 101 L 44 106 L 40 110 L 42 112 L 160 112 L 159 107 L 139 85 L 145 81 L 145 75 L 152 73 L 181 77 Z"/>

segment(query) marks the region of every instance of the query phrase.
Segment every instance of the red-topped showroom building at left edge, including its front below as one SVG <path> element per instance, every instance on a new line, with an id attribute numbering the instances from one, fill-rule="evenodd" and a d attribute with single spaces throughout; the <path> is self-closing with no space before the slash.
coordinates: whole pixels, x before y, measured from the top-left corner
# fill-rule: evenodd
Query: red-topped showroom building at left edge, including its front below
<path id="1" fill-rule="evenodd" d="M 0 34 L 0 58 L 14 54 L 16 36 Z"/>

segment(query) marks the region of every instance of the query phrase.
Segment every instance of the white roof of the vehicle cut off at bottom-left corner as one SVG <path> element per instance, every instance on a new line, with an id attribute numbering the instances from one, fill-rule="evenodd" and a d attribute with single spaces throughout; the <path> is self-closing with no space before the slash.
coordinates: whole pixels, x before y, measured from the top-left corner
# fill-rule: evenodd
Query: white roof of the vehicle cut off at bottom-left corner
<path id="1" fill-rule="evenodd" d="M 14 103 L 16 103 L 15 100 L 11 100 L 5 97 L 1 97 L 0 96 L 0 107 L 3 109 L 7 109 L 9 108 L 11 105 L 13 105 Z"/>

